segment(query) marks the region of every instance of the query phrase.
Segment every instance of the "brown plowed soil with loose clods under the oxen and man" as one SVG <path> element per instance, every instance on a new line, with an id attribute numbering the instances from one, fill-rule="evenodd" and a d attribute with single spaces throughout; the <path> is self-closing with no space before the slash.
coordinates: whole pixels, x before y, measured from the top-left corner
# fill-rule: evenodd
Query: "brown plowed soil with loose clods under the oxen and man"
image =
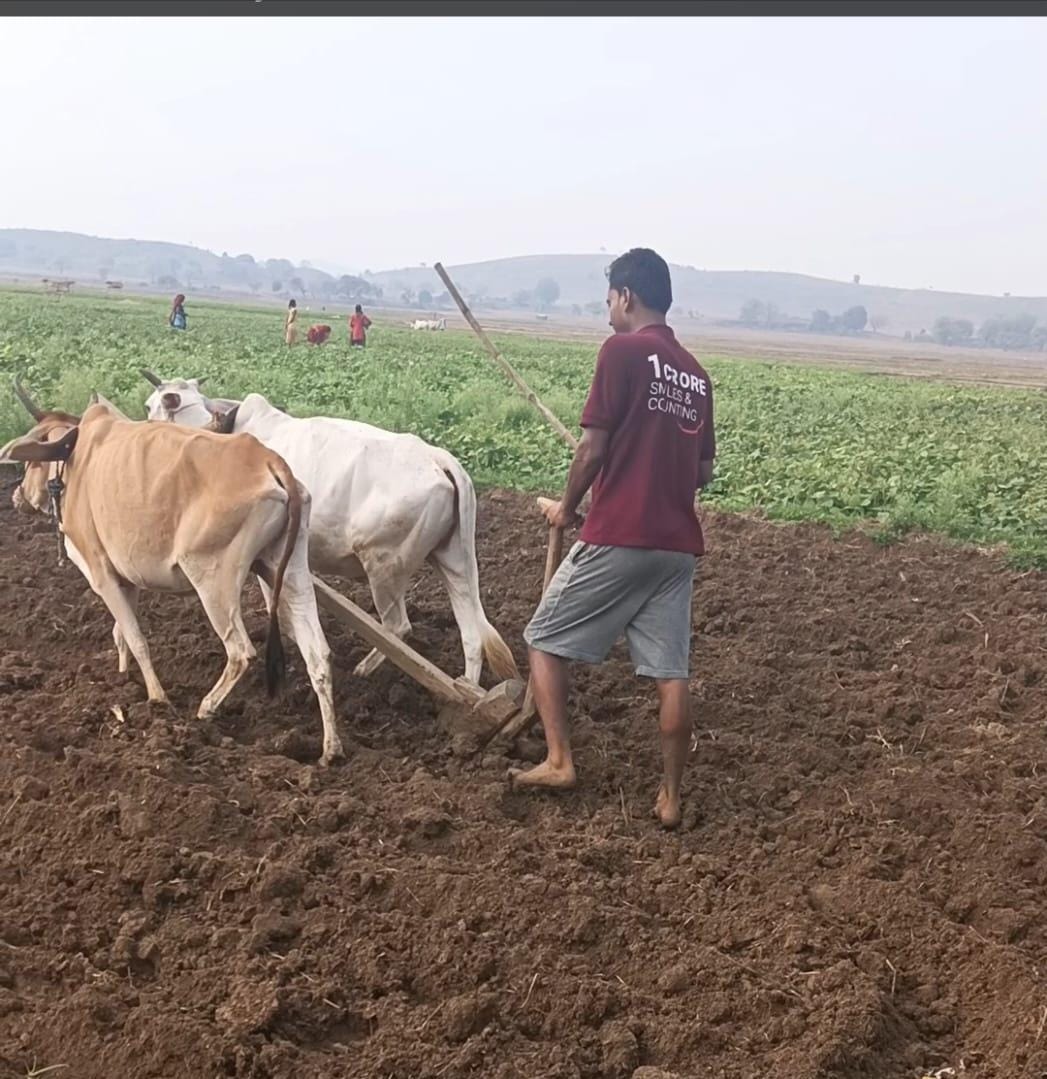
<path id="1" fill-rule="evenodd" d="M 580 787 L 512 793 L 325 616 L 348 760 L 291 648 L 193 719 L 195 599 L 142 624 L 173 708 L 0 490 L 0 1076 L 1047 1075 L 1047 585 L 929 540 L 707 517 L 683 829 L 650 817 L 651 689 L 579 668 Z M 545 537 L 481 502 L 521 664 Z M 366 593 L 346 588 L 358 601 Z M 249 625 L 263 618 L 251 586 Z M 435 577 L 413 642 L 452 674 Z M 53 1069 L 53 1070 L 45 1070 Z"/>

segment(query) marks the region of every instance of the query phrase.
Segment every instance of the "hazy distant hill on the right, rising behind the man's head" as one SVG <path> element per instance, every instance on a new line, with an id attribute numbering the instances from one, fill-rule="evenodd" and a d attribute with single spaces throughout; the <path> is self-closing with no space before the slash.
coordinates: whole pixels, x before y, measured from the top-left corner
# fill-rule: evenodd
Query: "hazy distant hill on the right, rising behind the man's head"
<path id="1" fill-rule="evenodd" d="M 559 286 L 556 301 L 561 309 L 577 304 L 602 303 L 607 295 L 604 271 L 609 255 L 532 255 L 472 262 L 448 267 L 448 273 L 460 290 L 467 292 L 478 308 L 494 299 L 512 302 L 518 293 L 533 291 L 539 281 L 549 277 Z M 1047 297 L 993 297 L 966 292 L 938 292 L 934 289 L 886 288 L 880 285 L 854 285 L 827 281 L 803 274 L 763 271 L 695 270 L 672 265 L 674 313 L 688 312 L 703 320 L 737 319 L 743 304 L 759 300 L 773 304 L 783 319 L 810 322 L 814 311 L 821 309 L 838 315 L 847 308 L 861 304 L 870 316 L 890 333 L 905 330 L 928 332 L 939 316 L 968 318 L 976 326 L 995 315 L 1014 317 L 1035 315 L 1047 320 Z M 430 291 L 434 299 L 443 291 L 435 271 L 412 267 L 371 274 L 386 301 L 398 299 L 405 288 L 414 295 Z M 520 297 L 522 299 L 522 297 Z"/>

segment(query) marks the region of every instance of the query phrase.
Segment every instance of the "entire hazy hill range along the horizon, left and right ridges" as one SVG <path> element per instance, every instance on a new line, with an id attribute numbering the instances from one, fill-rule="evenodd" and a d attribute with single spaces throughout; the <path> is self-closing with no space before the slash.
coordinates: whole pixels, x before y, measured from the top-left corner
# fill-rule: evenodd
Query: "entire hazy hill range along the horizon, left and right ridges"
<path id="1" fill-rule="evenodd" d="M 520 310 L 538 306 L 534 292 L 543 278 L 556 283 L 555 309 L 595 305 L 602 313 L 607 295 L 604 271 L 609 255 L 529 255 L 449 267 L 458 287 L 477 310 Z M 125 287 L 190 291 L 287 295 L 331 299 L 339 277 L 309 264 L 286 259 L 257 260 L 247 252 L 214 251 L 145 240 L 107 240 L 74 232 L 0 229 L 0 275 L 71 277 L 101 285 L 121 281 Z M 351 278 L 350 291 L 383 305 L 403 304 L 422 310 L 451 306 L 436 272 L 429 267 L 386 270 Z M 672 267 L 675 305 L 682 319 L 731 322 L 744 304 L 759 301 L 776 313 L 777 322 L 806 326 L 813 312 L 831 316 L 855 305 L 870 315 L 870 328 L 901 336 L 928 331 L 940 316 L 969 319 L 975 327 L 995 316 L 1034 316 L 1047 323 L 1047 297 L 992 297 L 933 289 L 887 288 L 762 271 L 696 270 Z M 368 285 L 370 290 L 368 290 Z M 303 286 L 303 287 L 300 287 Z M 353 291 L 356 290 L 356 291 Z M 380 292 L 379 292 L 380 290 Z M 443 295 L 441 295 L 443 293 Z"/>

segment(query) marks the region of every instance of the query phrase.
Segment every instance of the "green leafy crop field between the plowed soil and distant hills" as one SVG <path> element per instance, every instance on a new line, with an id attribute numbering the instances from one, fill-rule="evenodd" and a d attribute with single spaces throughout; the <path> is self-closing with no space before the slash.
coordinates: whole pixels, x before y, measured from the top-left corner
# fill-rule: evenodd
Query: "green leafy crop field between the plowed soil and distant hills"
<path id="1" fill-rule="evenodd" d="M 343 317 L 322 347 L 283 343 L 278 309 L 188 305 L 172 331 L 166 304 L 135 297 L 0 292 L 0 374 L 22 375 L 44 406 L 84 408 L 92 390 L 133 418 L 165 377 L 204 377 L 215 396 L 266 394 L 298 415 L 325 413 L 410 431 L 457 454 L 478 486 L 555 492 L 568 450 L 492 368 L 468 333 L 372 328 L 351 351 Z M 568 426 L 592 373 L 592 345 L 497 339 Z M 701 356 L 712 377 L 720 457 L 705 501 L 784 520 L 869 524 L 885 540 L 912 529 L 1006 544 L 1047 565 L 1047 395 L 887 379 Z M 0 391 L 0 438 L 28 427 Z"/>

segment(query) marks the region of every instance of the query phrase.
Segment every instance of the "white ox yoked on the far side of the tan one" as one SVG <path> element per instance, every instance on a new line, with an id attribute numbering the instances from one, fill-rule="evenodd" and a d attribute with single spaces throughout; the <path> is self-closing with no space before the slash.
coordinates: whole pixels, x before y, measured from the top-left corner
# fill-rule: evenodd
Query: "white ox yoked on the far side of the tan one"
<path id="1" fill-rule="evenodd" d="M 155 379 L 142 373 L 150 382 Z M 312 495 L 313 572 L 366 577 L 382 625 L 404 639 L 411 628 L 407 588 L 431 562 L 444 579 L 461 632 L 465 677 L 478 683 L 486 657 L 498 678 L 519 678 L 513 653 L 480 601 L 476 492 L 454 456 L 416 435 L 366 423 L 295 419 L 260 394 L 248 394 L 221 415 L 188 380 L 154 385 L 146 401 L 150 420 L 250 434 L 290 465 Z M 370 674 L 384 658 L 372 650 L 356 673 Z"/>

